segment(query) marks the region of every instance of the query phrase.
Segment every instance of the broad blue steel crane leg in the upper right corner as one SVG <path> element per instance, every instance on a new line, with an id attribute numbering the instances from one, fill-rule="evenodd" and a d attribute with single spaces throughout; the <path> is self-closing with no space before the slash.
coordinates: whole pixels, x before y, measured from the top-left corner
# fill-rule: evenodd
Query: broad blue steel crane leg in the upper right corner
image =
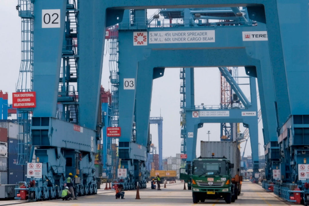
<path id="1" fill-rule="evenodd" d="M 286 83 L 289 97 L 290 114 L 304 115 L 309 114 L 309 20 L 308 20 L 308 1 L 302 0 L 291 3 L 288 0 L 278 1 L 278 23 L 280 26 L 280 40 L 282 43 L 282 53 L 286 67 Z M 293 15 L 288 11 L 297 11 L 298 15 Z M 280 67 L 273 67 L 274 72 L 283 72 Z M 275 76 L 275 82 L 282 82 L 280 76 Z M 276 91 L 277 92 L 277 91 Z M 277 94 L 277 93 L 276 93 Z M 277 99 L 279 104 L 280 99 Z M 286 103 L 286 102 L 281 102 Z M 279 117 L 281 117 L 278 108 Z M 288 114 L 289 115 L 289 114 Z M 288 116 L 280 118 L 279 127 L 281 127 Z"/>

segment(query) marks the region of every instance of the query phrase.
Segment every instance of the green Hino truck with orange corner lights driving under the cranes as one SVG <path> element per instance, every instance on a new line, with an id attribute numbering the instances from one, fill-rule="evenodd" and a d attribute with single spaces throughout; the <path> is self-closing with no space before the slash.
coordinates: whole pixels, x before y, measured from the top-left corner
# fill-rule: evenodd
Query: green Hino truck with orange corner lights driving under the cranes
<path id="1" fill-rule="evenodd" d="M 233 143 L 227 144 L 230 148 L 233 145 Z M 218 198 L 223 198 L 227 204 L 235 202 L 241 189 L 242 178 L 238 174 L 239 168 L 234 168 L 234 163 L 225 156 L 217 158 L 214 157 L 214 153 L 210 154 L 211 157 L 193 159 L 192 166 L 187 164 L 186 168 L 181 168 L 180 179 L 188 183 L 188 189 L 192 187 L 193 203 Z M 231 159 L 238 164 L 234 157 Z"/>

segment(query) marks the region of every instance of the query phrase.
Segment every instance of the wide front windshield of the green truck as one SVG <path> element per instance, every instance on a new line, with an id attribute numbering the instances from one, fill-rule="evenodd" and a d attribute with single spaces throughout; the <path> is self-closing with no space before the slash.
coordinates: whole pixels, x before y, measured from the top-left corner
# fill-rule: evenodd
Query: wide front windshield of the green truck
<path id="1" fill-rule="evenodd" d="M 194 161 L 192 166 L 192 174 L 195 175 L 218 175 L 229 173 L 229 166 L 225 161 Z"/>

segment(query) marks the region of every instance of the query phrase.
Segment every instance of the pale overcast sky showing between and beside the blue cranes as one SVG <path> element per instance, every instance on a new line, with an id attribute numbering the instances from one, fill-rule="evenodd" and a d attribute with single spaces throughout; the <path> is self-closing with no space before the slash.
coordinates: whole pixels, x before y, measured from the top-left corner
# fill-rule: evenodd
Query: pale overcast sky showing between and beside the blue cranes
<path id="1" fill-rule="evenodd" d="M 15 9 L 17 0 L 0 0 L 0 90 L 9 92 L 9 103 L 12 103 L 11 93 L 15 92 L 20 66 L 20 18 Z M 48 40 L 46 40 L 48 48 Z M 105 45 L 106 46 L 106 45 Z M 121 60 L 119 60 L 121 61 Z M 239 69 L 239 75 L 244 74 Z M 104 56 L 102 85 L 109 86 L 108 54 Z M 218 68 L 195 69 L 195 104 L 218 105 L 220 103 L 220 78 Z M 180 153 L 180 79 L 178 68 L 167 68 L 164 76 L 154 80 L 151 116 L 163 117 L 163 157 L 175 156 Z M 249 95 L 249 90 L 244 89 Z M 220 141 L 220 124 L 204 124 L 197 133 L 197 156 L 200 155 L 200 141 L 208 140 L 207 131 L 210 130 L 210 141 Z M 241 127 L 241 132 L 244 128 Z M 262 124 L 259 124 L 259 142 L 261 154 L 264 154 Z M 157 126 L 151 125 L 150 132 L 155 145 L 158 145 Z M 244 143 L 241 145 L 243 151 Z M 248 141 L 245 156 L 251 155 Z"/>

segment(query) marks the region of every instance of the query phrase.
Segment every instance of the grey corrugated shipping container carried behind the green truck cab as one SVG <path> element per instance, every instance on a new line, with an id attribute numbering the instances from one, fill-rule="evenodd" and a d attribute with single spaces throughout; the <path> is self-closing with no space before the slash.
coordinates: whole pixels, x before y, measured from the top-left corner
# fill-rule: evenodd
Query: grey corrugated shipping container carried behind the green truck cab
<path id="1" fill-rule="evenodd" d="M 234 177 L 239 174 L 240 169 L 240 151 L 236 142 L 228 141 L 201 141 L 201 157 L 211 158 L 214 153 L 215 158 L 225 157 L 234 164 L 231 174 Z"/>

